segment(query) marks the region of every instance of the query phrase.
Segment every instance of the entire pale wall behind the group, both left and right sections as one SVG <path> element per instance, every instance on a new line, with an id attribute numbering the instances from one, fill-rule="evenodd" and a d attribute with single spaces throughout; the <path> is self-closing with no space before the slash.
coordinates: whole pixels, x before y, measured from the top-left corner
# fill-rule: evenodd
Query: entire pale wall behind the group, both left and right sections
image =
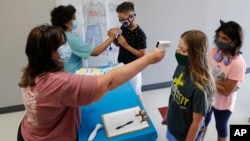
<path id="1" fill-rule="evenodd" d="M 235 20 L 242 25 L 245 42 L 243 56 L 249 66 L 250 1 L 248 0 L 132 0 L 137 14 L 136 22 L 147 34 L 148 51 L 157 40 L 171 40 L 172 46 L 162 62 L 145 69 L 143 85 L 170 81 L 176 61 L 179 36 L 186 30 L 199 29 L 212 40 L 219 19 Z M 27 60 L 24 53 L 26 38 L 31 28 L 48 22 L 55 0 L 1 0 L 0 1 L 0 108 L 22 104 L 17 83 Z"/>

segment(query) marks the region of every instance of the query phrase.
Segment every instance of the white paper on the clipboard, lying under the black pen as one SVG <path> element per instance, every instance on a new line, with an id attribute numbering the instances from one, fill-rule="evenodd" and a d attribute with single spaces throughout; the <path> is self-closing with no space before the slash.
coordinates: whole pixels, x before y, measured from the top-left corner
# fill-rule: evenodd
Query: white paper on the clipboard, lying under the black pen
<path id="1" fill-rule="evenodd" d="M 143 121 L 141 116 L 135 116 L 139 113 L 140 107 L 132 107 L 102 115 L 103 125 L 108 138 L 118 136 L 125 133 L 141 130 L 149 127 L 148 121 Z M 130 124 L 126 124 L 133 121 Z M 123 126 L 124 125 L 124 126 Z M 117 127 L 123 126 L 117 129 Z"/>

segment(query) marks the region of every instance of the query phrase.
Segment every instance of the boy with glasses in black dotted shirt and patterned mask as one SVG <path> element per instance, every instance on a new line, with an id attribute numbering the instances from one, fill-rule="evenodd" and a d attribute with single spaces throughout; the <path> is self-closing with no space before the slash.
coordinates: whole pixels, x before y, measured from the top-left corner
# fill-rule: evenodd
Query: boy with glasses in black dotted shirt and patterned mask
<path id="1" fill-rule="evenodd" d="M 118 62 L 130 63 L 145 55 L 146 34 L 135 22 L 134 4 L 132 2 L 123 2 L 117 6 L 116 12 L 121 23 L 121 36 L 114 41 L 119 47 Z M 141 73 L 131 79 L 131 84 L 136 93 L 142 100 L 141 94 Z"/>

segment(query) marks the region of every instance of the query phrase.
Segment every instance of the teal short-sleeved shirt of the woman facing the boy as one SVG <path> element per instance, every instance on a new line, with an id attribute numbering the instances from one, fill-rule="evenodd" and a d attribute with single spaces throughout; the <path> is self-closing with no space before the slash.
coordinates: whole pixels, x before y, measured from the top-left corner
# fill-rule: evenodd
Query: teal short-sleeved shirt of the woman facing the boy
<path id="1" fill-rule="evenodd" d="M 72 49 L 72 55 L 67 63 L 64 64 L 64 70 L 75 73 L 76 70 L 82 68 L 82 59 L 87 59 L 94 48 L 84 43 L 84 41 L 71 32 L 65 32 L 67 42 Z"/>

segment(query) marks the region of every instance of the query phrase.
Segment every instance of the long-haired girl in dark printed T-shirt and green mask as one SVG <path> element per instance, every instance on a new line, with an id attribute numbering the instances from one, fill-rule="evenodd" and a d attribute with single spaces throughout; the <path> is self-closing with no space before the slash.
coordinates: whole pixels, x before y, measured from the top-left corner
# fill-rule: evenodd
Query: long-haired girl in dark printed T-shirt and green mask
<path id="1" fill-rule="evenodd" d="M 168 113 L 162 121 L 168 125 L 169 141 L 202 138 L 204 117 L 215 90 L 208 49 L 207 36 L 201 31 L 186 31 L 180 37 Z"/>

